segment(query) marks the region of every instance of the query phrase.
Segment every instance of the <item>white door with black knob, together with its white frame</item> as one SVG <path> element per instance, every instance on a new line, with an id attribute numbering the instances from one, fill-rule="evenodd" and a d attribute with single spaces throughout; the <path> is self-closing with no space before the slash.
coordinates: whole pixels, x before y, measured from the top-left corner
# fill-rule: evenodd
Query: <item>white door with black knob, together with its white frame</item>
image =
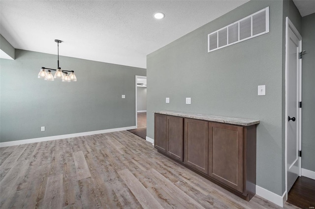
<path id="1" fill-rule="evenodd" d="M 301 176 L 302 36 L 286 17 L 285 28 L 285 189 Z"/>

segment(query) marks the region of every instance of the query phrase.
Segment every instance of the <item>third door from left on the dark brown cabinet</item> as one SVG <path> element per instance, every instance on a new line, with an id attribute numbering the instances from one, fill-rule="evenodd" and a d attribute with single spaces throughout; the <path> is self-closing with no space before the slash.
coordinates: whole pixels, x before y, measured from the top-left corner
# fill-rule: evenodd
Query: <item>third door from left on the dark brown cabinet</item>
<path id="1" fill-rule="evenodd" d="M 184 162 L 208 174 L 208 122 L 184 120 Z"/>

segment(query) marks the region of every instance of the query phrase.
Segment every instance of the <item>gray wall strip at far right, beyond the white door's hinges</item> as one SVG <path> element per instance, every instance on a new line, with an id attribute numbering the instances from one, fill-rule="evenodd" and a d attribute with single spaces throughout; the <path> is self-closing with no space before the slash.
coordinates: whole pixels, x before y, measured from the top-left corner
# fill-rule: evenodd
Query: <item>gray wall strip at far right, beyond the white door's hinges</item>
<path id="1" fill-rule="evenodd" d="M 302 18 L 302 168 L 315 171 L 315 13 Z"/>

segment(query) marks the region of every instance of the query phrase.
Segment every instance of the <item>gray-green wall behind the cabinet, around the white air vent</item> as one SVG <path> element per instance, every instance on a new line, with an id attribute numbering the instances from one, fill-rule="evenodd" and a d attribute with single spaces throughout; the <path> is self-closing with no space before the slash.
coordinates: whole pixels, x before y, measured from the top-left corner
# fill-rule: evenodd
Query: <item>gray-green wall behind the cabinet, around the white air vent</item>
<path id="1" fill-rule="evenodd" d="M 208 33 L 267 6 L 269 33 L 207 52 Z M 260 120 L 256 183 L 278 195 L 285 188 L 282 11 L 283 1 L 249 1 L 147 56 L 147 136 L 154 138 L 154 112 L 163 109 Z M 266 96 L 257 96 L 258 85 Z"/>

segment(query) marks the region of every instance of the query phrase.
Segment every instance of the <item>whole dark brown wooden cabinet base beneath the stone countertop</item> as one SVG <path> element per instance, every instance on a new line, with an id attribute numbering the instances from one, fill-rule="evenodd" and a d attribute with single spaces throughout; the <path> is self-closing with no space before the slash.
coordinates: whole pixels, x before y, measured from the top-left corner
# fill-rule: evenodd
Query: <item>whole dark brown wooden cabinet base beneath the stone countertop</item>
<path id="1" fill-rule="evenodd" d="M 155 113 L 155 148 L 249 201 L 256 193 L 256 124 Z M 241 119 L 240 121 L 243 121 Z"/>

